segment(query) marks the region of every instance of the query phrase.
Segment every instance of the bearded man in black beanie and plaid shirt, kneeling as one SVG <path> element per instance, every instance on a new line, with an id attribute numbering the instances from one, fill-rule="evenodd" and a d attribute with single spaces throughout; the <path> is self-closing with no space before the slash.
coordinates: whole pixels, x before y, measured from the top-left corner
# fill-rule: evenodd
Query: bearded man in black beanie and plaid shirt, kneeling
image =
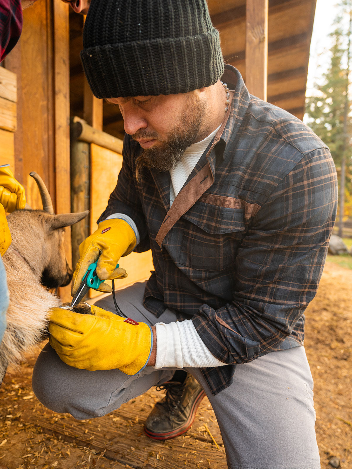
<path id="1" fill-rule="evenodd" d="M 114 279 L 121 256 L 151 248 L 154 271 L 118 292 L 128 319 L 110 296 L 92 315 L 53 310 L 34 392 L 85 419 L 164 383 L 145 432 L 167 439 L 204 390 L 229 468 L 319 468 L 303 313 L 336 215 L 329 149 L 224 69 L 205 0 L 92 0 L 83 39 L 92 92 L 126 136 L 72 294 L 97 259 Z"/>

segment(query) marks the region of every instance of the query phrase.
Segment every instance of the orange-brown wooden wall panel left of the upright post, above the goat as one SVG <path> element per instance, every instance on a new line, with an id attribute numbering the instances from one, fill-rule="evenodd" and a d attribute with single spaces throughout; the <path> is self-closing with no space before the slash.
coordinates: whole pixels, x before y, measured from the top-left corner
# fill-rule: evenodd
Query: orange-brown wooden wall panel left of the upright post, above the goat
<path id="1" fill-rule="evenodd" d="M 53 2 L 42 0 L 23 11 L 20 41 L 5 63 L 17 73 L 21 94 L 15 132 L 15 169 L 17 174 L 20 168 L 20 182 L 32 208 L 42 208 L 42 204 L 37 184 L 29 175 L 31 171 L 40 174 L 54 207 L 56 203 L 53 64 Z"/>

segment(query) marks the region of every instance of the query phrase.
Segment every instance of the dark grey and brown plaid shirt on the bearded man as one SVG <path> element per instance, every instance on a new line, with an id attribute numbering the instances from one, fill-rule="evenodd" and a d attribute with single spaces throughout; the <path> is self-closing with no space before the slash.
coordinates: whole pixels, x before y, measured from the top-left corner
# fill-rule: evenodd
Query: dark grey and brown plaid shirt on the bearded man
<path id="1" fill-rule="evenodd" d="M 236 68 L 227 65 L 223 81 L 234 94 L 221 138 L 172 207 L 168 173 L 145 170 L 136 181 L 141 149 L 126 135 L 118 183 L 99 219 L 122 212 L 136 222 L 136 251 L 153 252 L 145 307 L 192 318 L 212 354 L 228 363 L 203 370 L 214 394 L 231 384 L 237 364 L 302 345 L 303 313 L 337 209 L 327 146 L 302 121 L 249 95 Z"/>

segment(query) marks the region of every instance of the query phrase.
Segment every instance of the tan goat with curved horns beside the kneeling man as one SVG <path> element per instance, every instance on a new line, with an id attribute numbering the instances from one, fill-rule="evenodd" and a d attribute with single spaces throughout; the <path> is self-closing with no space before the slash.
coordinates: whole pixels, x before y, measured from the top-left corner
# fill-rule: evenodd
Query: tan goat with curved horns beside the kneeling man
<path id="1" fill-rule="evenodd" d="M 7 328 L 0 344 L 0 386 L 8 364 L 18 364 L 24 353 L 47 336 L 47 313 L 59 298 L 47 288 L 65 287 L 72 270 L 65 256 L 64 227 L 84 219 L 88 211 L 55 215 L 51 197 L 37 173 L 43 210 L 17 210 L 8 215 L 12 243 L 2 257 L 10 303 Z"/>

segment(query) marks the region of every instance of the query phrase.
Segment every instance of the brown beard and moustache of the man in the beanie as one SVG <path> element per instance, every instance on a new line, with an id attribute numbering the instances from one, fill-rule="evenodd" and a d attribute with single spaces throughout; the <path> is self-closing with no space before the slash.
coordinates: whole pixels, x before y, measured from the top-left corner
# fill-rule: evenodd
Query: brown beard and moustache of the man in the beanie
<path id="1" fill-rule="evenodd" d="M 172 132 L 168 133 L 161 144 L 145 148 L 136 159 L 137 179 L 143 167 L 169 172 L 181 161 L 186 148 L 197 141 L 206 107 L 206 103 L 201 102 L 197 95 L 187 96 L 184 111 Z M 157 132 L 144 132 L 143 130 L 132 135 L 134 140 L 158 137 Z"/>

